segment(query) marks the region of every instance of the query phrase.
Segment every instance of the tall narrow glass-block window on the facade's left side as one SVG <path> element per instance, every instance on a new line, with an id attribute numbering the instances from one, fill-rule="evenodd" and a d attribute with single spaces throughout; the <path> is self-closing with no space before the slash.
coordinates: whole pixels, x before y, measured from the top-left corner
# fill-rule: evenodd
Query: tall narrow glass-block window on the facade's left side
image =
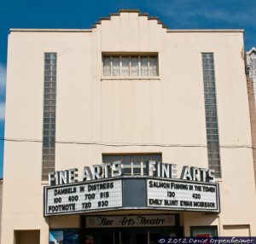
<path id="1" fill-rule="evenodd" d="M 48 173 L 55 171 L 55 101 L 56 60 L 55 53 L 44 54 L 44 123 L 42 180 L 48 180 Z"/>

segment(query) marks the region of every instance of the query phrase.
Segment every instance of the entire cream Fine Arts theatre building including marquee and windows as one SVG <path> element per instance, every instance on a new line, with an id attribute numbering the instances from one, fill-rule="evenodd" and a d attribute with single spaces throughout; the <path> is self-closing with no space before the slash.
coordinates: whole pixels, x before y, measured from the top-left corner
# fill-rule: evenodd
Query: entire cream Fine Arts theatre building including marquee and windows
<path id="1" fill-rule="evenodd" d="M 242 51 L 137 10 L 11 29 L 2 243 L 256 235 Z"/>

